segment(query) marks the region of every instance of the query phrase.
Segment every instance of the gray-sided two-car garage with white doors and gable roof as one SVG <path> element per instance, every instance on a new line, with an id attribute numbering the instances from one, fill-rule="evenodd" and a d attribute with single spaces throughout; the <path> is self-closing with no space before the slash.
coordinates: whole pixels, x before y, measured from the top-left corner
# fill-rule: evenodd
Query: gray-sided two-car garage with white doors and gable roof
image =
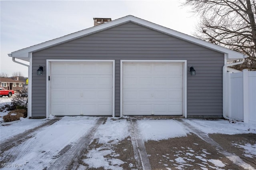
<path id="1" fill-rule="evenodd" d="M 245 55 L 134 16 L 108 19 L 9 54 L 30 62 L 29 117 L 226 114 L 227 62 Z"/>

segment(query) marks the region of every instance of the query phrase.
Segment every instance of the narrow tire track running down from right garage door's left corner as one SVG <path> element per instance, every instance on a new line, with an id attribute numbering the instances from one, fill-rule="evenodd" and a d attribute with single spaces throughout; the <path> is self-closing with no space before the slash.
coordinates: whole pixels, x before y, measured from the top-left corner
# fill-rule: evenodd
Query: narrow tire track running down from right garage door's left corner
<path id="1" fill-rule="evenodd" d="M 130 118 L 131 123 L 131 138 L 134 151 L 134 158 L 137 160 L 137 168 L 143 170 L 151 170 L 148 154 L 144 145 L 144 140 L 141 139 L 138 123 L 136 118 Z"/>

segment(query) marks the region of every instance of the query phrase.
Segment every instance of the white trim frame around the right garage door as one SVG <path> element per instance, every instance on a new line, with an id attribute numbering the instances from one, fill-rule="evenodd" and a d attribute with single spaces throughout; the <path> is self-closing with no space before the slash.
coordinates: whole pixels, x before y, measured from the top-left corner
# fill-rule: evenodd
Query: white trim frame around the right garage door
<path id="1" fill-rule="evenodd" d="M 183 96 L 182 112 L 187 117 L 187 61 L 186 60 L 120 60 L 120 116 L 123 116 L 123 64 L 124 63 L 182 63 L 183 64 Z"/>

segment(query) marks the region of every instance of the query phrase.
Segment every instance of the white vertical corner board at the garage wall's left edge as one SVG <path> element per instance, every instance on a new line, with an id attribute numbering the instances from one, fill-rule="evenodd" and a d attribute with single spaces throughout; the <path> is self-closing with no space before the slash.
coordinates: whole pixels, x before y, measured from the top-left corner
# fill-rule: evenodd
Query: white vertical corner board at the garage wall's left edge
<path id="1" fill-rule="evenodd" d="M 32 117 L 32 53 L 29 53 L 29 64 L 28 69 L 28 117 Z"/>

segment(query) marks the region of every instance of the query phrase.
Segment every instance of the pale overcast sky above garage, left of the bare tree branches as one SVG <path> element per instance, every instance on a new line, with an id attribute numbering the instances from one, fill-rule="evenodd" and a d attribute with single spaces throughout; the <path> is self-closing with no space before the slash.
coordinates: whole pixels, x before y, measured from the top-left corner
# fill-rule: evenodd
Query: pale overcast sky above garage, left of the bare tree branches
<path id="1" fill-rule="evenodd" d="M 0 72 L 12 76 L 26 66 L 14 63 L 8 53 L 93 26 L 93 18 L 112 20 L 133 15 L 172 30 L 192 35 L 198 18 L 184 0 L 116 1 L 1 1 Z M 28 64 L 28 63 L 27 63 Z"/>

